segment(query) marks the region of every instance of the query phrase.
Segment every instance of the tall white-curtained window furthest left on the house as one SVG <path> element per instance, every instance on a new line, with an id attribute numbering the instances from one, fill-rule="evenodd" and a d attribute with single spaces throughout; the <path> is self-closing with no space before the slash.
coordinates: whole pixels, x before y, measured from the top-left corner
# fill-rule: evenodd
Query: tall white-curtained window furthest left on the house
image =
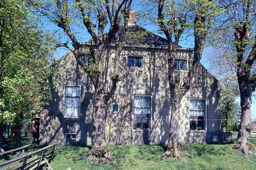
<path id="1" fill-rule="evenodd" d="M 79 117 L 79 99 L 79 86 L 65 86 L 65 117 Z"/>

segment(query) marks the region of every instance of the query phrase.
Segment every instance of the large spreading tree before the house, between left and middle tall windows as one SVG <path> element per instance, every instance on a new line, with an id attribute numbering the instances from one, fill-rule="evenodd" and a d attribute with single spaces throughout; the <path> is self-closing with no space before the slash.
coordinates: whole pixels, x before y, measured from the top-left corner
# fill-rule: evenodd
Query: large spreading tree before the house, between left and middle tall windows
<path id="1" fill-rule="evenodd" d="M 118 71 L 115 71 L 111 77 L 112 87 L 106 90 L 105 75 L 107 66 L 104 65 L 106 59 L 106 47 L 110 41 L 115 39 L 115 58 L 119 57 L 125 40 L 119 40 L 119 32 L 126 33 L 129 11 L 132 0 L 119 1 L 28 1 L 31 6 L 35 7 L 40 14 L 49 19 L 51 22 L 63 29 L 71 40 L 57 44 L 58 47 L 64 46 L 71 50 L 79 65 L 84 69 L 86 75 L 92 81 L 93 104 L 94 104 L 94 146 L 88 155 L 92 160 L 100 158 L 111 158 L 110 150 L 105 142 L 105 112 L 106 104 L 117 88 L 119 81 Z M 92 57 L 90 66 L 86 66 L 80 57 L 82 48 L 79 39 L 71 29 L 71 25 L 82 23 L 82 26 L 92 37 L 92 46 L 87 46 L 90 50 L 88 53 Z M 109 23 L 109 24 L 108 24 Z M 122 25 L 123 24 L 123 25 Z M 109 28 L 108 33 L 105 29 Z M 71 48 L 72 46 L 72 48 Z M 116 61 L 116 60 L 115 60 Z M 116 65 L 116 63 L 115 63 Z M 118 65 L 117 65 L 118 66 Z M 116 69 L 115 69 L 116 70 Z"/>

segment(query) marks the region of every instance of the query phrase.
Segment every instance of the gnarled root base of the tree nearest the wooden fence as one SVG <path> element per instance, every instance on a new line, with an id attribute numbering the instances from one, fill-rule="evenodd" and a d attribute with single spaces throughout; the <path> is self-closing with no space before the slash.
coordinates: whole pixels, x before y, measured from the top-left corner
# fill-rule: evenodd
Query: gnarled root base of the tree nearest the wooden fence
<path id="1" fill-rule="evenodd" d="M 114 158 L 108 146 L 93 146 L 86 156 L 92 163 L 96 164 L 109 164 L 114 162 Z"/>

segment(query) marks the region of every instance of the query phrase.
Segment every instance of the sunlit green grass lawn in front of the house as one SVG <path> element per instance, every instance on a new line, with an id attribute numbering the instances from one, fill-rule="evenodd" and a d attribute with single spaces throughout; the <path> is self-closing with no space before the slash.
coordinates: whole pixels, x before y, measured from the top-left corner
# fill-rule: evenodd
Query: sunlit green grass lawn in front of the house
<path id="1" fill-rule="evenodd" d="M 256 169 L 256 156 L 246 158 L 230 150 L 230 146 L 184 146 L 186 162 L 163 158 L 163 146 L 110 146 L 115 163 L 108 165 L 95 165 L 84 159 L 82 155 L 90 147 L 59 146 L 51 165 L 53 169 Z"/>

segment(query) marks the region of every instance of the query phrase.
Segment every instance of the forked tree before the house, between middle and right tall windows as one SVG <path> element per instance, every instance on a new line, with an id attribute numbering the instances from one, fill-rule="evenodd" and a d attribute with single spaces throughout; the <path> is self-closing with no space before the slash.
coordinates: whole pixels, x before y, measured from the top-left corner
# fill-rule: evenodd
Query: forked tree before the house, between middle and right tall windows
<path id="1" fill-rule="evenodd" d="M 162 30 L 168 41 L 168 80 L 171 95 L 171 119 L 170 133 L 164 156 L 180 157 L 181 144 L 179 141 L 179 110 L 181 99 L 189 90 L 192 78 L 196 73 L 205 47 L 209 28 L 213 17 L 218 14 L 218 8 L 214 1 L 165 1 L 159 0 L 147 2 L 157 14 L 152 16 L 156 24 Z M 152 11 L 152 9 L 151 9 Z M 175 74 L 175 56 L 180 37 L 184 35 L 186 28 L 193 29 L 195 43 L 193 46 L 193 58 L 187 76 L 181 80 Z M 181 85 L 180 85 L 181 84 Z"/>

